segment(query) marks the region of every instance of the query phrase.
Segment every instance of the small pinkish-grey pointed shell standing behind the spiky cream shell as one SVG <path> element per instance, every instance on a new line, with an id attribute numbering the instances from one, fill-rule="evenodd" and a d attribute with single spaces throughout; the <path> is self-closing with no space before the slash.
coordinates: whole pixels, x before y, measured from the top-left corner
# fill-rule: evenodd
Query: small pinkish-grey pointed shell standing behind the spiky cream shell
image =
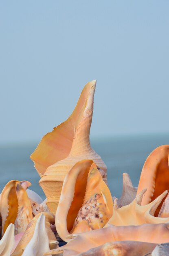
<path id="1" fill-rule="evenodd" d="M 123 173 L 123 193 L 117 200 L 118 207 L 130 204 L 136 198 L 137 188 L 134 188 L 128 173 Z"/>

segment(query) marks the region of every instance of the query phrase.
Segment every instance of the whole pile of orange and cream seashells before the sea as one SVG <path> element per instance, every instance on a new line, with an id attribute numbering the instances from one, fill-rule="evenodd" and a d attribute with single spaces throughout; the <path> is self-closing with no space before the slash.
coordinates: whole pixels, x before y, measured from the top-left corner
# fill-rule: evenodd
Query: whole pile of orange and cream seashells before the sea
<path id="1" fill-rule="evenodd" d="M 121 198 L 111 195 L 90 146 L 95 86 L 85 85 L 72 115 L 31 155 L 46 200 L 28 181 L 2 190 L 0 256 L 169 256 L 169 145 L 147 157 L 138 189 L 124 173 Z"/>

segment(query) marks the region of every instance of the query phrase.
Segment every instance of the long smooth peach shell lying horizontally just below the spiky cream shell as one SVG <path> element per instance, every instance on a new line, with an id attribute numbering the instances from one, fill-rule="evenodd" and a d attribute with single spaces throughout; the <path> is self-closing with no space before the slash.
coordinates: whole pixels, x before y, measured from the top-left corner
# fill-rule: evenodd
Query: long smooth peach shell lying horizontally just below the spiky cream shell
<path id="1" fill-rule="evenodd" d="M 105 243 L 114 241 L 138 241 L 153 244 L 166 243 L 169 239 L 168 224 L 143 224 L 138 226 L 114 226 L 87 231 L 68 236 L 69 243 L 44 255 L 55 255 L 64 252 L 64 256 L 86 252 Z M 133 243 L 133 242 L 132 242 Z M 97 254 L 96 254 L 97 255 Z M 133 255 L 133 254 L 128 254 Z M 128 256 L 127 255 L 127 256 Z"/>

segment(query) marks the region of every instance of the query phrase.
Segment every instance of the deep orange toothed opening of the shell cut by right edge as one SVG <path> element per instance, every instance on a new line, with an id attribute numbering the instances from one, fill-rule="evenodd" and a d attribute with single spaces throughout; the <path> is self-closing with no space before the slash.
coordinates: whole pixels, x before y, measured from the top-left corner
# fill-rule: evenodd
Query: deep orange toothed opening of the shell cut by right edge
<path id="1" fill-rule="evenodd" d="M 161 195 L 165 190 L 169 189 L 169 165 L 168 165 L 168 156 L 164 159 L 161 159 L 160 163 L 158 164 L 154 176 L 155 181 L 155 188 L 153 196 L 151 197 L 151 201 L 155 200 L 159 195 Z M 167 195 L 166 195 L 167 196 Z M 165 198 L 166 198 L 165 196 Z M 165 198 L 163 198 L 160 205 L 157 207 L 154 216 L 158 216 L 158 213 L 161 209 L 162 203 L 164 202 Z"/>

